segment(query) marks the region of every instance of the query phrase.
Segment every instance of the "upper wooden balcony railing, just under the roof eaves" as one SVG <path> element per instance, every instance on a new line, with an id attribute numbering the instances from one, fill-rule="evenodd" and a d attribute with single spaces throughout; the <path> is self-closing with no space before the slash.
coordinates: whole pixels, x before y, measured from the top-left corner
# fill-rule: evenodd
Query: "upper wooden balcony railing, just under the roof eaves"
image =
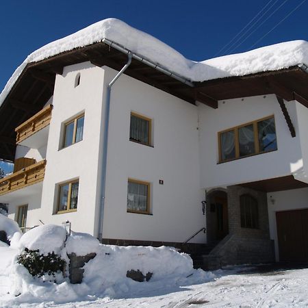
<path id="1" fill-rule="evenodd" d="M 37 114 L 34 114 L 29 120 L 16 127 L 16 144 L 32 136 L 37 131 L 40 131 L 40 129 L 47 127 L 51 120 L 52 109 L 53 105 L 48 105 Z"/>

